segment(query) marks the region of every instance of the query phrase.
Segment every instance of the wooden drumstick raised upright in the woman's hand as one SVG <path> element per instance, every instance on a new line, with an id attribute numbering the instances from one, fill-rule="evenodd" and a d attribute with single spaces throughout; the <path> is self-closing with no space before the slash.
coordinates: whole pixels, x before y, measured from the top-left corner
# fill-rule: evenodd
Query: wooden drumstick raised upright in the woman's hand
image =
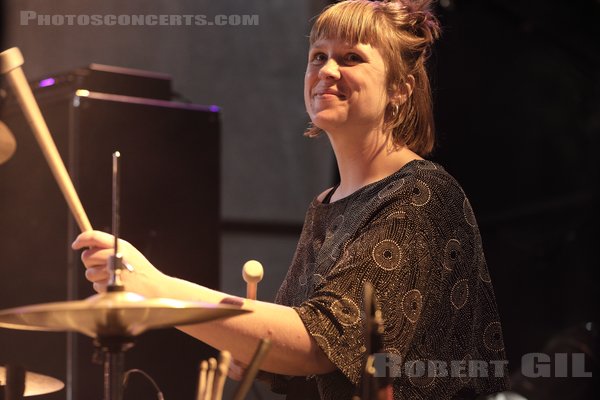
<path id="1" fill-rule="evenodd" d="M 77 225 L 82 232 L 91 231 L 92 225 L 81 205 L 79 196 L 75 191 L 73 182 L 69 177 L 69 173 L 65 168 L 65 164 L 60 158 L 56 144 L 50 135 L 46 121 L 42 116 L 42 112 L 33 97 L 29 83 L 25 78 L 25 74 L 21 69 L 23 65 L 23 55 L 17 47 L 5 50 L 0 53 L 0 73 L 5 74 L 14 92 L 17 96 L 17 100 L 21 105 L 21 109 L 25 114 L 25 118 L 29 123 L 29 126 L 33 130 L 35 138 L 44 153 L 44 157 L 50 166 L 50 170 L 60 187 L 65 200 L 69 206 L 69 209 L 77 221 Z"/>

